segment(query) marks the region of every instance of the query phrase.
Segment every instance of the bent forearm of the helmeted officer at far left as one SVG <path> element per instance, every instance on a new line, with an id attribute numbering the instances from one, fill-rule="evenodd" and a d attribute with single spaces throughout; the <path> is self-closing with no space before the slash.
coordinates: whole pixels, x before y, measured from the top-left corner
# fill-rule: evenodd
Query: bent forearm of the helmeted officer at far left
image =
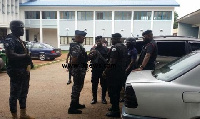
<path id="1" fill-rule="evenodd" d="M 17 54 L 13 50 L 6 50 L 6 56 L 10 60 L 20 60 L 28 57 L 27 54 Z"/>

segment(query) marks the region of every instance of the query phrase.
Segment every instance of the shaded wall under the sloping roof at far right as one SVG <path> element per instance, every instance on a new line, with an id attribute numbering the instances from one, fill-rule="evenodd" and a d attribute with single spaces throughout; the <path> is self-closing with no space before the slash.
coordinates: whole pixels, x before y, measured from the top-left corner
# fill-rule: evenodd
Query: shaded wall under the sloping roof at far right
<path id="1" fill-rule="evenodd" d="M 193 36 L 198 38 L 199 27 L 192 27 L 191 24 L 178 23 L 178 36 Z"/>

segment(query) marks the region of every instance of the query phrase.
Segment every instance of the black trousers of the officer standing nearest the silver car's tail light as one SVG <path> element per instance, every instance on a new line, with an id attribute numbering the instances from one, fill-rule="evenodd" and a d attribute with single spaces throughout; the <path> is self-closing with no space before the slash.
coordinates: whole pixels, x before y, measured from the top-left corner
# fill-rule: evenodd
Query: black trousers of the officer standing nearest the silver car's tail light
<path id="1" fill-rule="evenodd" d="M 119 111 L 119 99 L 120 99 L 120 91 L 121 91 L 121 85 L 109 85 L 108 86 L 108 92 L 110 97 L 110 103 L 112 104 L 112 110 L 113 111 Z"/>

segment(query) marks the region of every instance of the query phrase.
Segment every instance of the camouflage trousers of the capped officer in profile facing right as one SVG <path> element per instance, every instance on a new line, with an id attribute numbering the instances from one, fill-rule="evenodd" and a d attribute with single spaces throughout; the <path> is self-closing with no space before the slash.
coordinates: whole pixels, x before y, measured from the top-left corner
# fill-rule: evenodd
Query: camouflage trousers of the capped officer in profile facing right
<path id="1" fill-rule="evenodd" d="M 70 107 L 73 108 L 74 105 L 79 104 L 80 92 L 84 85 L 85 71 L 73 72 L 73 86 L 71 94 L 71 104 Z"/>

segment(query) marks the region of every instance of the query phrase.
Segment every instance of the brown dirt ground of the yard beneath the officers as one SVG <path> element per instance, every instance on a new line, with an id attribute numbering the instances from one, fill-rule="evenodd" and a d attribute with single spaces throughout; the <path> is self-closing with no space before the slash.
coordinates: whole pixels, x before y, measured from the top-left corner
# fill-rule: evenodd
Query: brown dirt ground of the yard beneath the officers
<path id="1" fill-rule="evenodd" d="M 60 58 L 66 58 L 66 55 Z M 44 61 L 34 60 L 33 62 L 39 64 Z M 27 98 L 28 114 L 36 119 L 109 119 L 105 114 L 111 105 L 108 96 L 106 97 L 108 104 L 101 103 L 100 86 L 98 88 L 98 103 L 90 104 L 92 100 L 90 71 L 86 74 L 85 84 L 80 96 L 80 103 L 86 105 L 86 108 L 82 109 L 83 114 L 72 115 L 67 113 L 71 101 L 72 84 L 66 84 L 68 72 L 62 68 L 62 63 L 65 63 L 65 61 L 31 70 Z M 9 91 L 9 77 L 6 73 L 0 73 L 0 119 L 11 117 L 8 102 Z"/>

